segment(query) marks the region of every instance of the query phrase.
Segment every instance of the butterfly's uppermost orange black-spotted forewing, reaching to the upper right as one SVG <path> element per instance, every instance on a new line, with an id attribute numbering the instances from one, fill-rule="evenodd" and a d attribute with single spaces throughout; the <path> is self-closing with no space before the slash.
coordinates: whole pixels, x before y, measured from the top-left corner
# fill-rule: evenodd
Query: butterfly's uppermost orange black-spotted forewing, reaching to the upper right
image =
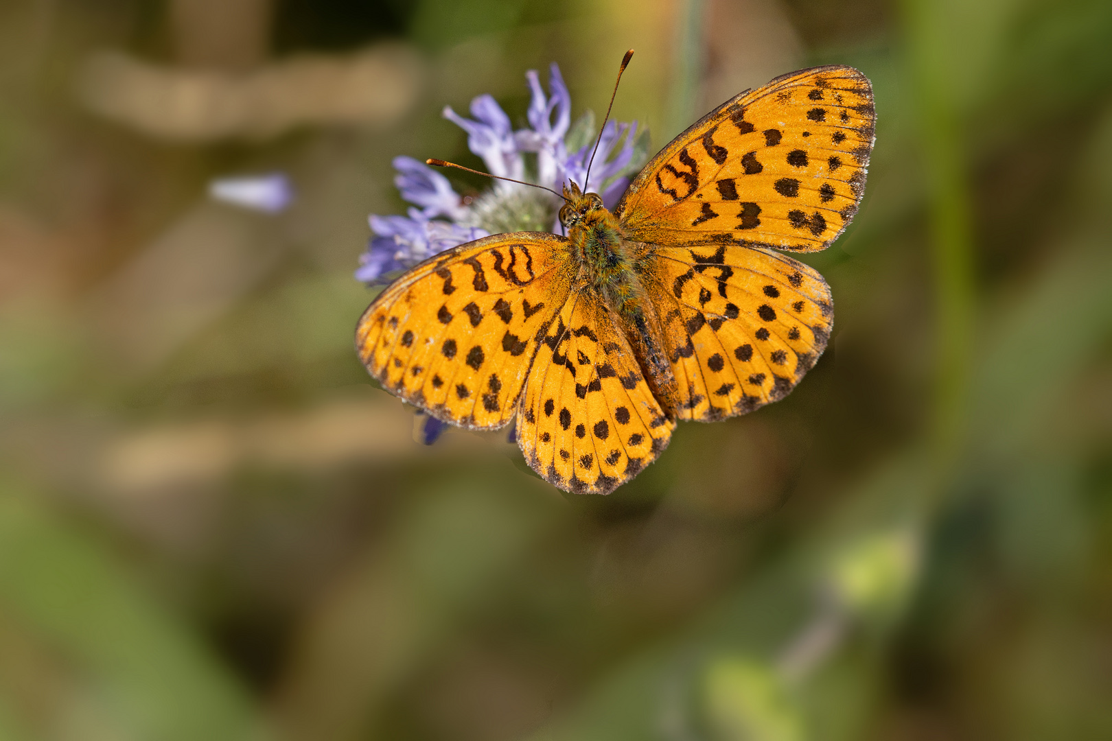
<path id="1" fill-rule="evenodd" d="M 874 123 L 857 70 L 785 74 L 676 137 L 614 213 L 644 242 L 822 250 L 857 211 Z"/>

